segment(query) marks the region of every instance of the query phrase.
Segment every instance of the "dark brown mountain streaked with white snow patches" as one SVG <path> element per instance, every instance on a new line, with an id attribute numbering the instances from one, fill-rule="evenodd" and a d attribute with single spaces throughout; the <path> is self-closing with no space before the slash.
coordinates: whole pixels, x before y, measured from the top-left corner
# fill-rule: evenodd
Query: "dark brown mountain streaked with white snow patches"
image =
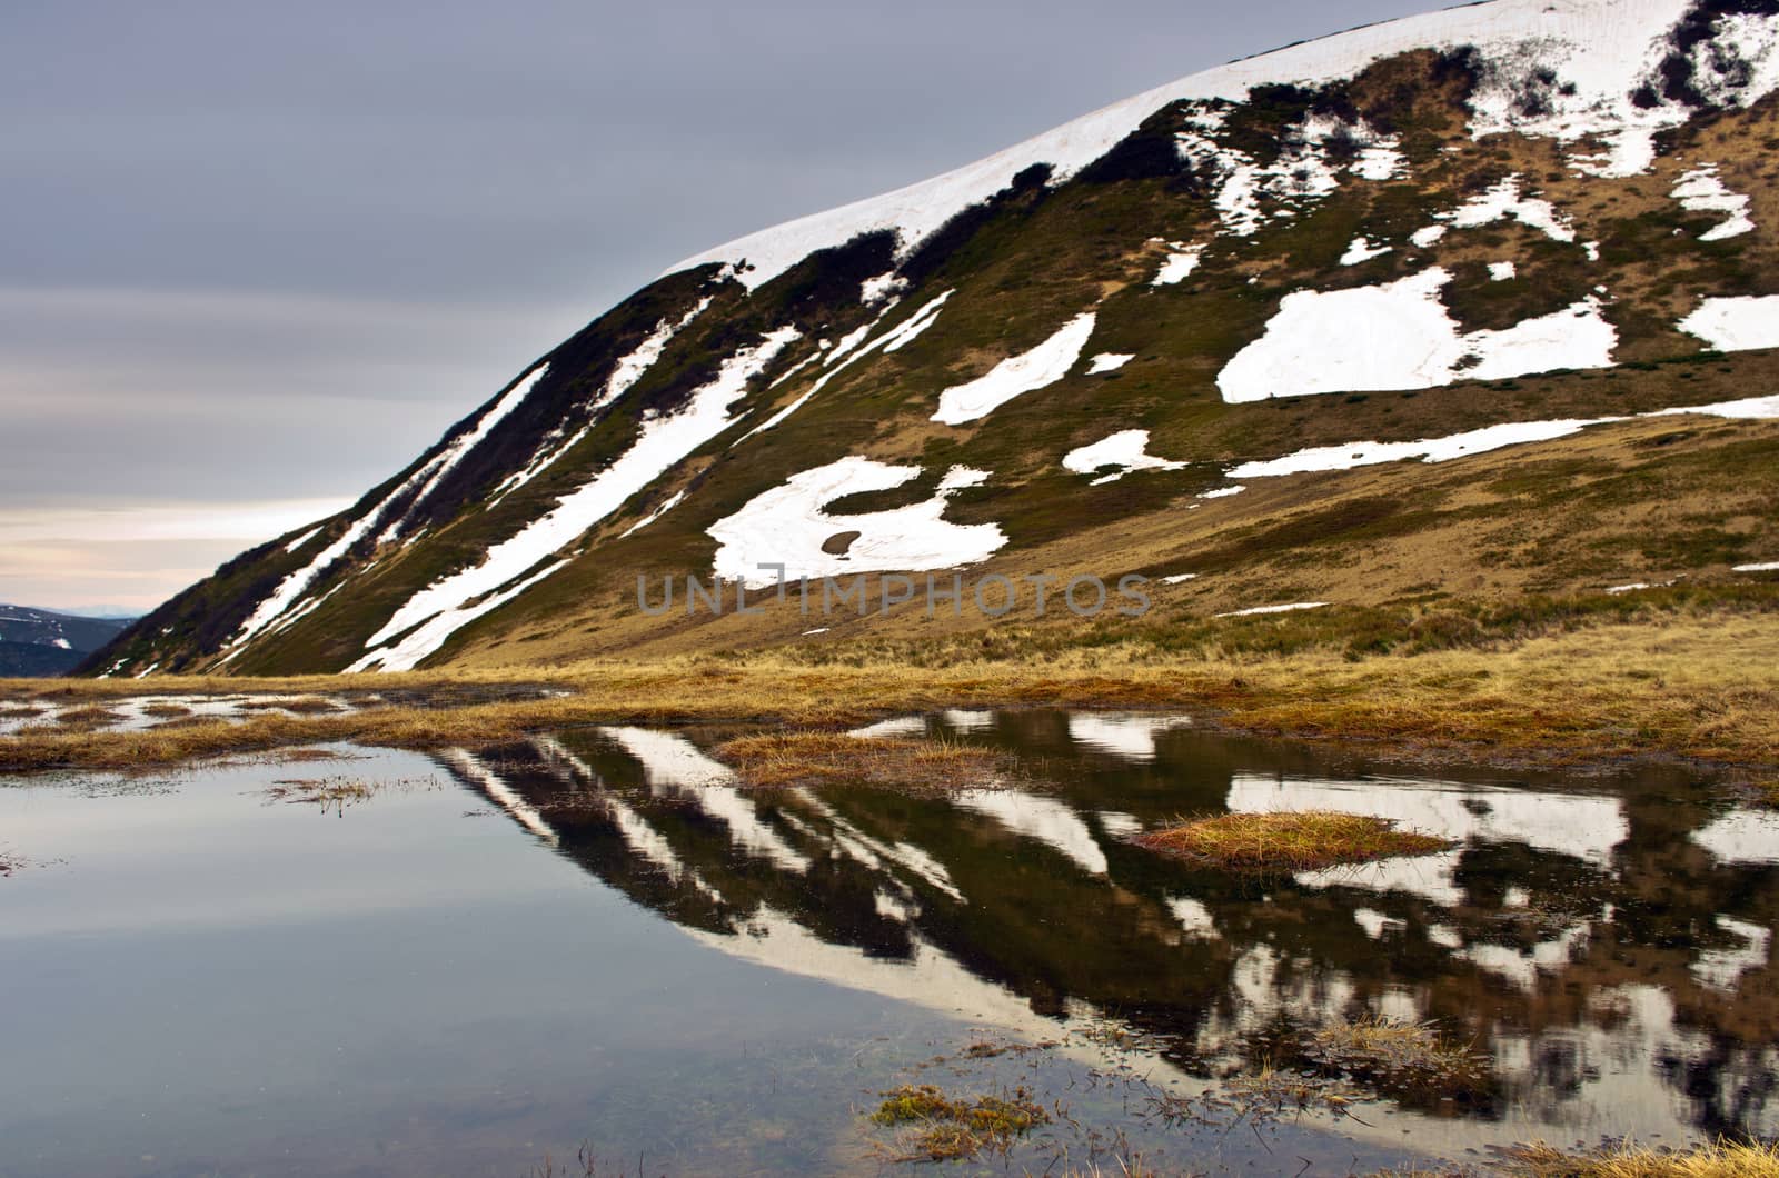
<path id="1" fill-rule="evenodd" d="M 1775 91 L 1779 0 L 1494 0 L 1194 75 L 685 260 L 85 669 L 955 635 L 996 575 L 1021 619 L 1062 578 L 1062 625 L 1082 575 L 1160 623 L 1758 575 Z M 968 607 L 875 609 L 954 568 Z M 687 612 L 713 575 L 749 612 Z"/>

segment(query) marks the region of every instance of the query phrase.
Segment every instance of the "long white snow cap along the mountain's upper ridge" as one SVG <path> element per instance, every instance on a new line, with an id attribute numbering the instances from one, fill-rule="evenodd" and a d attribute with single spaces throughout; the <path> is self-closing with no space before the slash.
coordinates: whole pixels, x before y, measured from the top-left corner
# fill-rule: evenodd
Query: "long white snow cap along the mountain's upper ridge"
<path id="1" fill-rule="evenodd" d="M 1654 155 L 1656 132 L 1692 114 L 1678 94 L 1656 91 L 1656 101 L 1640 96 L 1663 77 L 1670 53 L 1692 66 L 1695 87 L 1722 98 L 1752 101 L 1779 84 L 1774 34 L 1761 20 L 1770 16 L 1767 5 L 1715 5 L 1726 11 L 1724 30 L 1706 43 L 1674 46 L 1670 32 L 1683 7 L 1674 0 L 1494 0 L 1306 41 L 1126 98 L 945 176 L 728 242 L 669 272 L 724 262 L 742 267 L 742 281 L 758 286 L 817 249 L 877 230 L 895 231 L 902 247 L 913 249 L 1034 164 L 1051 169 L 1051 183 L 1078 174 L 1171 103 L 1238 103 L 1258 85 L 1322 85 L 1414 50 L 1471 50 L 1485 62 L 1469 101 L 1471 135 L 1555 139 L 1569 148 L 1574 167 L 1637 174 Z M 1720 55 L 1726 48 L 1733 55 Z M 1743 68 L 1751 68 L 1747 77 Z M 1541 82 L 1544 71 L 1553 77 Z M 1244 165 L 1235 153 L 1224 162 Z"/>

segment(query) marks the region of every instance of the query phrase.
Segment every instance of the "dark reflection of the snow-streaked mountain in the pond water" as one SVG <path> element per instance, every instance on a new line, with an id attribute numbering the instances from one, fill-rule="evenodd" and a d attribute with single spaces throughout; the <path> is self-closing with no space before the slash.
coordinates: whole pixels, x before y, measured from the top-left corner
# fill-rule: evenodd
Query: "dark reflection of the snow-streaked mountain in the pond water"
<path id="1" fill-rule="evenodd" d="M 1587 788 L 1332 772 L 1169 717 L 865 731 L 991 744 L 1039 785 L 749 794 L 704 730 L 568 731 L 443 763 L 637 904 L 790 973 L 1032 1034 L 1115 1016 L 1187 1077 L 1293 1027 L 1439 1020 L 1493 1075 L 1466 1100 L 1395 1094 L 1437 1150 L 1779 1130 L 1779 826 L 1678 772 Z M 1260 886 L 1126 842 L 1179 813 L 1279 808 L 1461 845 Z"/>

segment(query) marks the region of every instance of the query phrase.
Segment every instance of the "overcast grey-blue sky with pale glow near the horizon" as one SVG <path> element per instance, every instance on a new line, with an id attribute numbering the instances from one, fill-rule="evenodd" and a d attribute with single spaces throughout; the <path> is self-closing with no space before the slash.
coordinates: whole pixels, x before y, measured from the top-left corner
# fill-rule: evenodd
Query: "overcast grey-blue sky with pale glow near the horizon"
<path id="1" fill-rule="evenodd" d="M 0 601 L 146 610 L 674 262 L 1427 0 L 7 0 Z"/>

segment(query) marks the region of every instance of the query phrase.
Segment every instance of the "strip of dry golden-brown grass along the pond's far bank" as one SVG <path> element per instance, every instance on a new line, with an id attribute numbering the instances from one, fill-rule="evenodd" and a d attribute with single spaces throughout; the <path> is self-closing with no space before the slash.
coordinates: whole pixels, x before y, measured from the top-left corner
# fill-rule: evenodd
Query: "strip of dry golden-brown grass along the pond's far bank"
<path id="1" fill-rule="evenodd" d="M 1290 623 L 1300 625 L 1300 623 Z M 1324 625 L 1324 623 L 1316 623 Z M 943 655 L 938 657 L 938 655 Z M 149 733 L 0 737 L 0 769 L 169 765 L 229 751 L 359 740 L 436 747 L 511 740 L 587 722 L 760 721 L 801 728 L 970 706 L 1165 708 L 1228 730 L 1364 742 L 1402 760 L 1599 765 L 1697 758 L 1751 776 L 1779 767 L 1779 625 L 1767 614 L 1701 612 L 1601 619 L 1480 648 L 1350 658 L 1340 650 L 1208 655 L 1144 642 L 1028 650 L 1016 630 L 993 653 L 845 648 L 722 653 L 551 669 L 434 671 L 292 680 L 18 680 L 27 705 L 222 690 L 411 692 L 431 706 L 327 715 L 254 715 Z M 512 698 L 539 685 L 562 698 Z"/>

